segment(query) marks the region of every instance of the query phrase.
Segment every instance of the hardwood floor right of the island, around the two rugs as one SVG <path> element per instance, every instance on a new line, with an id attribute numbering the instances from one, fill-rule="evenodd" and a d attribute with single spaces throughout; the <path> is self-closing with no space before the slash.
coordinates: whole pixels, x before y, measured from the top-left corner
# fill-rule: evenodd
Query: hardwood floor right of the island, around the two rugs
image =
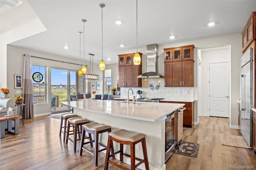
<path id="1" fill-rule="evenodd" d="M 228 170 L 230 165 L 256 168 L 253 150 L 221 145 L 219 133 L 241 136 L 240 130 L 229 128 L 228 118 L 200 117 L 199 125 L 184 128 L 182 140 L 200 144 L 198 157 L 173 154 L 166 170 Z"/>

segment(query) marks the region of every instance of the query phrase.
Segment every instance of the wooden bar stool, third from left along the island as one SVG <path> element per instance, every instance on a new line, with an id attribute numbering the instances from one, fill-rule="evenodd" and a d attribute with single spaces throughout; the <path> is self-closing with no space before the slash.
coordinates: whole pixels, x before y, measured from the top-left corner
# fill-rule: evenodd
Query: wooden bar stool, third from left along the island
<path id="1" fill-rule="evenodd" d="M 84 142 L 85 132 L 88 132 L 89 135 L 94 134 L 95 139 L 94 140 L 90 139 L 89 142 Z M 80 144 L 79 154 L 80 154 L 80 156 L 82 156 L 82 152 L 83 152 L 83 150 L 85 150 L 86 152 L 89 152 L 90 154 L 94 155 L 94 166 L 98 166 L 98 152 L 102 152 L 103 150 L 107 149 L 106 145 L 99 143 L 99 134 L 103 133 L 103 132 L 108 132 L 108 133 L 111 132 L 111 127 L 108 125 L 102 125 L 102 124 L 96 123 L 96 122 L 88 123 L 88 124 L 85 124 L 82 126 L 82 136 L 81 136 L 82 141 Z M 90 145 L 92 147 L 92 142 L 95 142 L 94 152 L 91 152 L 90 150 L 88 150 L 87 148 L 84 147 L 84 144 L 88 144 L 88 143 L 90 143 Z M 99 145 L 103 146 L 104 148 L 99 150 Z M 112 148 L 113 148 L 113 146 L 112 146 Z M 112 149 L 112 151 L 113 151 L 112 153 L 114 153 L 114 149 Z"/>

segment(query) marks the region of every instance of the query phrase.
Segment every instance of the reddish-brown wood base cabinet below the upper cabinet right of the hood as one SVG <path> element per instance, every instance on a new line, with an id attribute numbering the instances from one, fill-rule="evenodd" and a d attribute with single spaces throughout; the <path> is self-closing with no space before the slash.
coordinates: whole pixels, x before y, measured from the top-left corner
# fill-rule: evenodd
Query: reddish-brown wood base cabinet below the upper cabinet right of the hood
<path id="1" fill-rule="evenodd" d="M 184 103 L 186 109 L 183 111 L 183 127 L 194 125 L 194 102 L 160 101 L 160 103 Z"/>

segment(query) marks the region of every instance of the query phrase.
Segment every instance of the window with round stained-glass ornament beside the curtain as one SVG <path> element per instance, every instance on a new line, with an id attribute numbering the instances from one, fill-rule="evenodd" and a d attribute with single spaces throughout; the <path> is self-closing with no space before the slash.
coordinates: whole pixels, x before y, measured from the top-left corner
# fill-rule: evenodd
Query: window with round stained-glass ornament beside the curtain
<path id="1" fill-rule="evenodd" d="M 31 65 L 33 100 L 36 103 L 46 102 L 46 67 Z"/>

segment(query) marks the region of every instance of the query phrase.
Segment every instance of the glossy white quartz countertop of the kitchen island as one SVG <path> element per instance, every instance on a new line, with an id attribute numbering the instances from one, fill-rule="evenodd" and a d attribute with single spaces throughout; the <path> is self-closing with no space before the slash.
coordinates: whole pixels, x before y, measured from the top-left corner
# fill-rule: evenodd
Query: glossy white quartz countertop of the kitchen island
<path id="1" fill-rule="evenodd" d="M 127 104 L 124 101 L 95 99 L 61 103 L 84 111 L 151 122 L 162 121 L 166 119 L 166 115 L 184 106 L 178 103 L 130 102 Z"/>

